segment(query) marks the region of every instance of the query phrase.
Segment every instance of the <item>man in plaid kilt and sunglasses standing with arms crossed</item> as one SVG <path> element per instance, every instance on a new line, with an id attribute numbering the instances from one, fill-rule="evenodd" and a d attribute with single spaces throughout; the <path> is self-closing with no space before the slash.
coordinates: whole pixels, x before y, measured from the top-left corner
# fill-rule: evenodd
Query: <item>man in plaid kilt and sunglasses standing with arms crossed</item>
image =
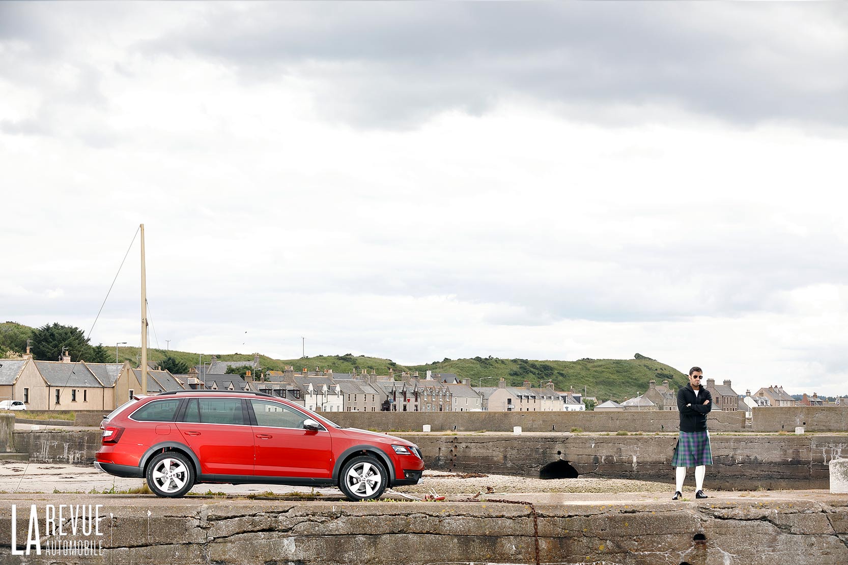
<path id="1" fill-rule="evenodd" d="M 672 457 L 672 466 L 677 468 L 677 490 L 672 497 L 673 501 L 683 498 L 683 479 L 686 478 L 687 467 L 695 468 L 695 498 L 706 498 L 703 490 L 704 475 L 706 465 L 712 464 L 706 415 L 712 409 L 712 395 L 700 385 L 702 377 L 700 367 L 690 368 L 689 385 L 678 390 L 680 435 Z"/>

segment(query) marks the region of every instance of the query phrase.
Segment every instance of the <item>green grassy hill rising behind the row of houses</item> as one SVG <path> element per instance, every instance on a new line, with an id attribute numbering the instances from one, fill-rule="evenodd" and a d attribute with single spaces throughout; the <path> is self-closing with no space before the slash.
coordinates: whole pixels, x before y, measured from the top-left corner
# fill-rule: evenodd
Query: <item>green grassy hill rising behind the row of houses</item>
<path id="1" fill-rule="evenodd" d="M 21 324 L 0 324 L 0 341 L 3 341 L 0 345 L 18 350 L 20 343 L 25 344 L 26 339 L 30 337 L 31 330 L 28 326 Z M 3 340 L 4 337 L 5 340 Z M 4 352 L 0 352 L 0 355 Z M 166 355 L 187 363 L 190 367 L 199 363 L 198 353 L 148 349 L 148 360 L 152 363 L 160 362 Z M 136 365 L 139 357 L 141 357 L 141 351 L 138 347 L 118 349 L 120 362 L 126 360 Z M 219 354 L 217 357 L 220 361 L 252 361 L 254 358 L 253 354 L 239 353 Z M 204 362 L 209 362 L 210 359 L 211 355 L 204 354 Z M 508 385 L 520 386 L 524 380 L 529 380 L 533 386 L 539 386 L 550 379 L 554 381 L 558 391 L 567 391 L 573 387 L 575 391 L 585 390 L 589 396 L 596 396 L 600 401 L 612 399 L 619 402 L 635 396 L 637 392 L 646 391 L 650 379 L 655 379 L 657 384 L 667 379 L 674 390 L 686 383 L 685 374 L 639 353 L 633 359 L 580 359 L 578 361 L 538 361 L 497 357 L 446 358 L 443 361 L 408 366 L 394 363 L 391 359 L 354 356 L 350 353 L 298 359 L 273 359 L 259 355 L 259 361 L 262 368 L 278 371 L 286 365 L 292 365 L 296 371 L 305 367 L 310 371 L 314 371 L 315 368 L 321 370 L 331 368 L 335 373 L 354 371 L 359 373 L 365 369 L 368 373 L 375 371 L 377 374 L 385 375 L 388 374 L 388 369 L 392 368 L 395 374 L 402 371 L 418 371 L 423 377 L 429 370 L 433 373 L 454 373 L 460 379 L 471 379 L 471 384 L 474 386 L 480 385 L 481 382 L 483 386 L 497 386 L 501 378 L 505 379 Z"/>

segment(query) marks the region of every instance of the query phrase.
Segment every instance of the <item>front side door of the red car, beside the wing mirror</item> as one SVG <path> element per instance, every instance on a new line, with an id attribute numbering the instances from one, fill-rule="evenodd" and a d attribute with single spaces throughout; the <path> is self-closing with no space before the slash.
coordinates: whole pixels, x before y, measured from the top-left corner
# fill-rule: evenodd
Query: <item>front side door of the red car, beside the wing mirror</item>
<path id="1" fill-rule="evenodd" d="M 255 474 L 273 477 L 332 478 L 330 432 L 304 429 L 309 415 L 282 402 L 251 399 L 254 414 Z"/>

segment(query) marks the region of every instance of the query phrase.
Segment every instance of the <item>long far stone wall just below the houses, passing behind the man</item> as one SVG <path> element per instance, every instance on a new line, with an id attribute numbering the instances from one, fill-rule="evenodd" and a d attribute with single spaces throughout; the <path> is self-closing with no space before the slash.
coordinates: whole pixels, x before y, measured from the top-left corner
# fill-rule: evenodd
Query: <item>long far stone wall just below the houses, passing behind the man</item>
<path id="1" fill-rule="evenodd" d="M 645 410 L 633 412 L 332 412 L 324 413 L 336 424 L 361 429 L 421 431 L 430 424 L 432 431 L 511 432 L 521 426 L 527 432 L 567 432 L 572 428 L 586 432 L 619 430 L 663 432 L 678 430 L 677 412 Z M 707 418 L 712 431 L 745 429 L 744 412 L 711 412 Z M 811 430 L 812 431 L 812 430 Z"/>

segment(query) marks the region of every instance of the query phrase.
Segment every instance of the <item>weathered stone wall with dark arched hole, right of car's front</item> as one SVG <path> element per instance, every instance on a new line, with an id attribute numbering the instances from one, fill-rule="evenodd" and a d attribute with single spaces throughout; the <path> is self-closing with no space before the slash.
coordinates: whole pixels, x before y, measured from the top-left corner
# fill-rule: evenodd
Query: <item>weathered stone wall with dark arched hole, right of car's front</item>
<path id="1" fill-rule="evenodd" d="M 673 482 L 674 435 L 404 434 L 427 468 L 539 477 L 567 462 L 581 477 Z M 848 455 L 845 435 L 711 435 L 710 488 L 826 489 L 828 463 Z M 692 471 L 689 471 L 689 480 Z"/>

